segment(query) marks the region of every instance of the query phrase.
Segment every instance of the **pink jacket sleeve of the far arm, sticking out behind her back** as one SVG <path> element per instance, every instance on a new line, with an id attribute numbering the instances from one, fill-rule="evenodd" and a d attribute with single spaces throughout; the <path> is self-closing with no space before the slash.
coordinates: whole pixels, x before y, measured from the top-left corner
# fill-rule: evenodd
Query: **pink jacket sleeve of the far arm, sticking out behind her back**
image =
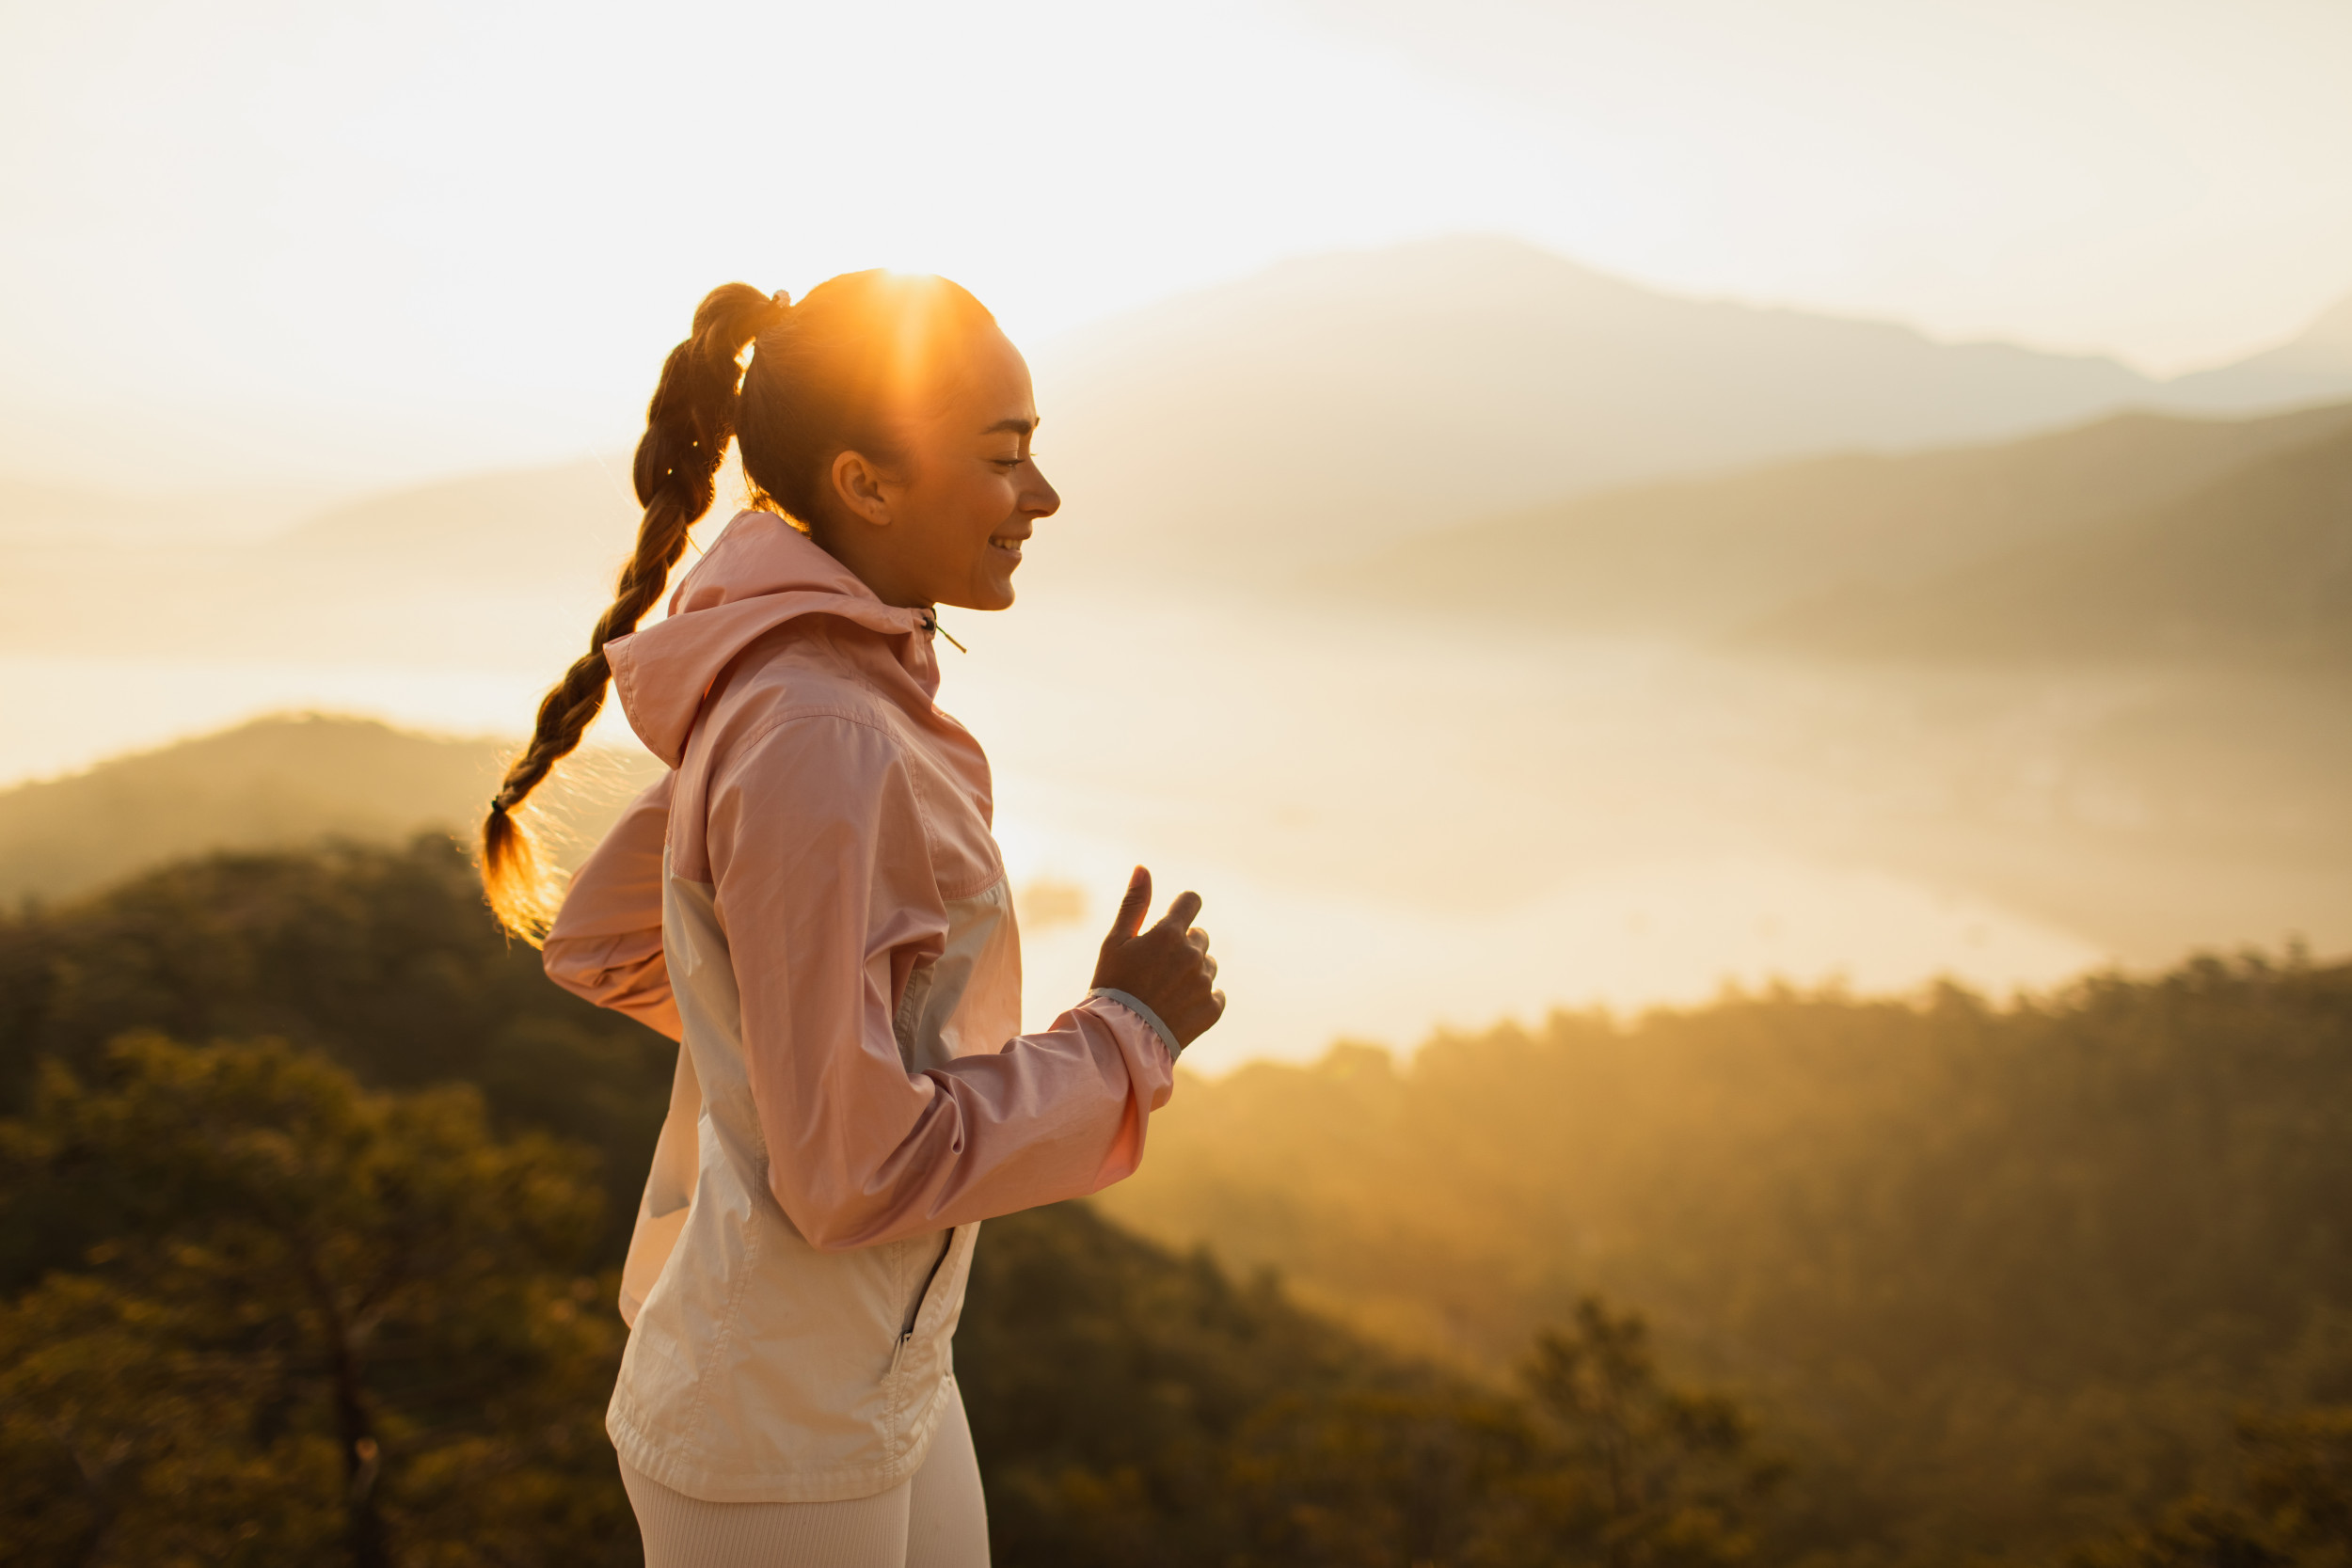
<path id="1" fill-rule="evenodd" d="M 541 952 L 550 980 L 670 1039 L 684 1034 L 670 969 L 661 959 L 661 846 L 675 778 L 663 773 L 628 802 L 621 820 L 572 875 Z"/>

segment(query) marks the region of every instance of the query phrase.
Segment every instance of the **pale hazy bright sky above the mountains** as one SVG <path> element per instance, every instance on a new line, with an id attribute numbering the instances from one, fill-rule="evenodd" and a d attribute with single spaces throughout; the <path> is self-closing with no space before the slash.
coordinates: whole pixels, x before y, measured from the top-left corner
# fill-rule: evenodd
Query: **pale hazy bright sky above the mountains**
<path id="1" fill-rule="evenodd" d="M 628 440 L 694 299 L 943 270 L 1023 341 L 1512 233 L 2117 353 L 2352 292 L 2352 0 L 0 0 L 0 470 Z"/>

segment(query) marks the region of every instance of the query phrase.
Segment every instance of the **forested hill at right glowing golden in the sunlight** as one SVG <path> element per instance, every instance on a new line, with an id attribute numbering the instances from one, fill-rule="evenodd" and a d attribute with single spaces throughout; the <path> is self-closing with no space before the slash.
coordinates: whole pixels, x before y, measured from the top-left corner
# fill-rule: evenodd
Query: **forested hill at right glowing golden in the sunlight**
<path id="1" fill-rule="evenodd" d="M 2056 1552 L 2352 1401 L 2352 964 L 1343 1046 L 1185 1084 L 1103 1204 L 1470 1366 L 1637 1302 L 1900 1559 Z"/>

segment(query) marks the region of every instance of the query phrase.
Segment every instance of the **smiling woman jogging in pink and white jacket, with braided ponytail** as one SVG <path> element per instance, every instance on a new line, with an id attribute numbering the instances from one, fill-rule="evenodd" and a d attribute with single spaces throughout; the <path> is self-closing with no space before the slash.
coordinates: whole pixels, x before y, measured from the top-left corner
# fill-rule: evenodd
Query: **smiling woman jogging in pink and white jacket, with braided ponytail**
<path id="1" fill-rule="evenodd" d="M 1014 602 L 1061 505 L 1035 430 L 953 282 L 715 289 L 647 411 L 616 599 L 482 827 L 548 973 L 682 1041 L 607 1413 L 649 1568 L 985 1563 L 950 1359 L 978 1222 L 1129 1175 L 1223 1013 L 1200 898 L 1145 929 L 1138 867 L 1094 990 L 1021 1034 L 988 757 L 934 703 L 934 637 L 941 604 Z M 748 510 L 640 632 L 729 440 Z M 670 771 L 557 907 L 517 809 L 607 679 Z"/>

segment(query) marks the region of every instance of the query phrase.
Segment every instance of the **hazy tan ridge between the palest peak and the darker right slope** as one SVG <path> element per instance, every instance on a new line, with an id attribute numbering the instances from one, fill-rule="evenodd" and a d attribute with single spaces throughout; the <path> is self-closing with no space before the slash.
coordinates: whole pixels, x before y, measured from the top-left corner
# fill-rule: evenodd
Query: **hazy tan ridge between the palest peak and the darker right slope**
<path id="1" fill-rule="evenodd" d="M 1383 609 L 1717 635 L 2086 536 L 2345 430 L 2352 404 L 2249 421 L 2117 414 L 2023 442 L 1809 458 L 1432 531 L 1305 583 Z"/>

